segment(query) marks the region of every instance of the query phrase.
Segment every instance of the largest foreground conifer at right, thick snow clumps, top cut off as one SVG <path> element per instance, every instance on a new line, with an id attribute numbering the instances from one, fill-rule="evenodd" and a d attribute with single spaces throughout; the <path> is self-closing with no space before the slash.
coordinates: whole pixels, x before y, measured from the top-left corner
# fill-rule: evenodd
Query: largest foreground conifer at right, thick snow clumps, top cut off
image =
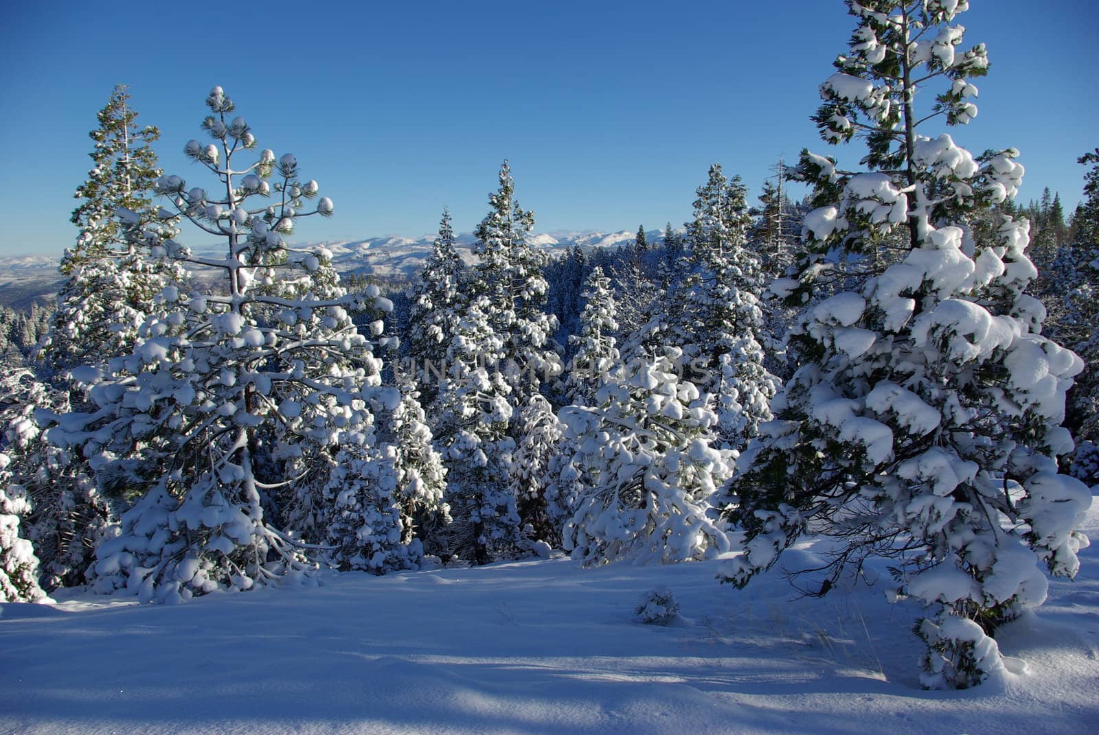
<path id="1" fill-rule="evenodd" d="M 1017 152 L 974 159 L 950 135 L 919 132 L 977 113 L 969 79 L 988 59 L 983 45 L 964 51 L 953 24 L 968 3 L 847 5 L 857 27 L 814 120 L 830 143 L 865 137 L 869 170 L 802 154 L 818 209 L 784 287 L 804 303 L 836 261 L 861 286 L 791 330 L 800 367 L 741 456 L 728 516 L 745 553 L 724 576 L 746 583 L 808 532 L 840 542 L 828 581 L 870 554 L 902 557 L 900 591 L 939 610 L 918 625 L 922 681 L 967 687 L 998 658 L 963 619 L 990 632 L 1041 604 L 1039 564 L 1072 577 L 1087 545 L 1077 528 L 1090 492 L 1056 461 L 1073 448 L 1059 424 L 1080 360 L 1040 334 L 1045 310 L 1024 292 L 1028 222 L 1002 216 L 992 237 L 974 237 L 975 213 L 1015 193 Z"/>

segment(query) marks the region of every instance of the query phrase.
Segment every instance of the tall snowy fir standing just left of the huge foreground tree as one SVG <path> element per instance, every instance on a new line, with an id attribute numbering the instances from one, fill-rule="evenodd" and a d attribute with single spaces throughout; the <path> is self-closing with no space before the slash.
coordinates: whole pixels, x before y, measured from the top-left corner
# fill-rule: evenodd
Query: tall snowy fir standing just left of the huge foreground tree
<path id="1" fill-rule="evenodd" d="M 719 164 L 699 187 L 695 219 L 687 223 L 684 270 L 691 272 L 679 288 L 684 308 L 676 325 L 685 363 L 691 375 L 700 374 L 699 389 L 714 399 L 720 444 L 736 449 L 770 419 L 768 402 L 778 388 L 757 338 L 762 275 L 758 257 L 746 247 L 745 191 L 740 177 L 726 179 Z"/>

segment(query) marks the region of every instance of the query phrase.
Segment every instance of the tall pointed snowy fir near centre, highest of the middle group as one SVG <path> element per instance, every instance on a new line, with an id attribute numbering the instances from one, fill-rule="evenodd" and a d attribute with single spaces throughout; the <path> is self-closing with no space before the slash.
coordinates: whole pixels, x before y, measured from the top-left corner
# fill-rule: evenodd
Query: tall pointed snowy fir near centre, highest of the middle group
<path id="1" fill-rule="evenodd" d="M 542 422 L 521 422 L 524 408 L 536 408 L 543 377 L 560 372 L 548 346 L 556 319 L 543 311 L 546 256 L 528 240 L 533 212 L 514 199 L 511 168 L 500 168 L 500 188 L 489 194 L 489 213 L 477 226 L 480 257 L 467 285 L 469 301 L 448 352 L 449 375 L 440 396 L 443 422 L 436 434 L 447 463 L 448 503 L 455 550 L 477 564 L 513 556 L 528 546 L 514 488 L 512 452 L 525 431 Z M 533 523 L 531 523 L 533 525 Z"/>

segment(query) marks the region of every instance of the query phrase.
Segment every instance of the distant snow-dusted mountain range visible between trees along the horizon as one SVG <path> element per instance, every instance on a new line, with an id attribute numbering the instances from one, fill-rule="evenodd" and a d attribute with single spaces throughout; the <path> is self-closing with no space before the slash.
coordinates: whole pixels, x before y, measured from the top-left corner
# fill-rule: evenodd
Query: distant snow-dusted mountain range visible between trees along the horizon
<path id="1" fill-rule="evenodd" d="M 645 233 L 650 242 L 663 236 L 659 231 Z M 550 232 L 533 235 L 531 243 L 547 253 L 560 254 L 579 245 L 584 250 L 597 247 L 629 245 L 635 232 Z M 333 265 L 341 274 L 373 276 L 378 280 L 408 280 L 423 266 L 431 255 L 435 235 L 401 237 L 386 235 L 347 242 L 324 242 L 297 245 L 311 247 L 323 245 L 332 253 Z M 471 261 L 476 237 L 471 233 L 457 236 L 458 253 L 466 261 Z M 215 253 L 214 249 L 196 247 L 198 252 Z M 57 296 L 63 279 L 57 271 L 58 256 L 18 255 L 0 256 L 0 304 L 12 309 L 30 309 L 31 304 L 51 303 Z"/>

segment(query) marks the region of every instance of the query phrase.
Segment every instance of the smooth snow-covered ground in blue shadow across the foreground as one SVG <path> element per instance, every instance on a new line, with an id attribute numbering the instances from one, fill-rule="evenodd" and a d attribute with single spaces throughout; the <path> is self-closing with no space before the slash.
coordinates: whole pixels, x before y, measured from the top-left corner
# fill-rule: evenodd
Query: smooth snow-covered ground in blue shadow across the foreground
<path id="1" fill-rule="evenodd" d="M 1099 541 L 1099 503 L 1086 531 Z M 808 565 L 821 542 L 788 553 Z M 136 605 L 4 604 L 3 733 L 1094 733 L 1099 543 L 998 635 L 1006 683 L 919 688 L 918 609 L 878 589 L 743 591 L 715 564 L 566 559 Z M 879 568 L 880 570 L 880 568 Z M 665 586 L 668 626 L 633 606 Z"/>

